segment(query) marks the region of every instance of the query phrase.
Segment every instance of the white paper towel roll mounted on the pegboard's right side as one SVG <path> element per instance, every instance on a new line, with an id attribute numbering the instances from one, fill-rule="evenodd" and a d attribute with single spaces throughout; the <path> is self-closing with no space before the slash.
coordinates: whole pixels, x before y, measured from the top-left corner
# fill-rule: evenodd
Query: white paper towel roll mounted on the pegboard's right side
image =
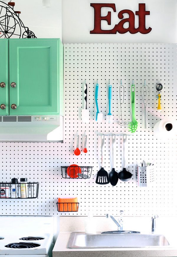
<path id="1" fill-rule="evenodd" d="M 154 135 L 156 137 L 165 136 L 171 138 L 176 135 L 177 121 L 174 118 L 164 118 L 157 122 L 153 128 Z"/>

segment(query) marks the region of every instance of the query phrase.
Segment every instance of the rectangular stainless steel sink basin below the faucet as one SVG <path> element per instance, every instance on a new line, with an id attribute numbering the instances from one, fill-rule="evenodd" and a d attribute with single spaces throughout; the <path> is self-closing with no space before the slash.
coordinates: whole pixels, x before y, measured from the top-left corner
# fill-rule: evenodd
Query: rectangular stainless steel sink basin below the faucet
<path id="1" fill-rule="evenodd" d="M 67 248 L 119 248 L 119 247 L 146 247 L 168 246 L 164 235 L 156 234 L 85 234 L 72 232 Z"/>

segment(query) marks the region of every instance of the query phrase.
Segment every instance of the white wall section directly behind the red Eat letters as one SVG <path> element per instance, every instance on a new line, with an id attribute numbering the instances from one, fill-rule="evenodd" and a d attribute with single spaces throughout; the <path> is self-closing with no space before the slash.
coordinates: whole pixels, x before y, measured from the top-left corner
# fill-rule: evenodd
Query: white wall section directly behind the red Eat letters
<path id="1" fill-rule="evenodd" d="M 112 29 L 119 19 L 117 14 L 123 9 L 138 10 L 138 3 L 145 3 L 150 15 L 146 16 L 149 34 L 90 34 L 94 28 L 94 8 L 90 3 L 115 3 L 116 13 L 110 8 L 102 8 L 102 16 L 112 12 L 112 25 L 102 21 L 102 29 Z M 177 1 L 176 0 L 63 0 L 62 30 L 63 43 L 176 43 L 177 42 Z M 127 18 L 128 16 L 126 16 Z M 136 27 L 138 18 L 136 16 Z"/>

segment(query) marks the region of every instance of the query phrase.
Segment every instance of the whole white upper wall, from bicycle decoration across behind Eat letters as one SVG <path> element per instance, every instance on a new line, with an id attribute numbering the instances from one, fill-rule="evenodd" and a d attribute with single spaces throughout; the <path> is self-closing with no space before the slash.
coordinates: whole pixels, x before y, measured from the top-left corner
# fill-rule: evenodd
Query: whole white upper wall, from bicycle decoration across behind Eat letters
<path id="1" fill-rule="evenodd" d="M 6 4 L 8 1 L 4 0 Z M 43 8 L 42 0 L 15 0 L 14 9 L 21 11 L 22 22 L 38 38 L 62 37 L 63 43 L 177 42 L 176 0 L 50 0 L 50 2 L 50 8 Z M 108 11 L 112 12 L 112 25 L 102 21 L 102 29 L 112 29 L 119 22 L 117 14 L 122 9 L 130 9 L 135 13 L 138 4 L 145 3 L 146 10 L 150 11 L 150 15 L 146 16 L 146 28 L 152 27 L 152 31 L 149 34 L 139 32 L 90 34 L 90 30 L 94 28 L 94 8 L 90 6 L 91 3 L 116 5 L 116 12 L 110 8 L 102 8 L 103 16 L 106 16 Z M 135 26 L 138 27 L 137 15 Z"/>

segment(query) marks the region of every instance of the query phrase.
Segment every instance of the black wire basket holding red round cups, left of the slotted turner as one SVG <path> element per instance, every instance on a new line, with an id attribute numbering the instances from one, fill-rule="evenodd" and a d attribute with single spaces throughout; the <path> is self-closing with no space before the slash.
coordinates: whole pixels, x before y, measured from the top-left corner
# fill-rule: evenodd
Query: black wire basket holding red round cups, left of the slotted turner
<path id="1" fill-rule="evenodd" d="M 73 164 L 61 167 L 61 175 L 64 179 L 89 179 L 91 172 L 91 166 L 78 166 Z"/>

